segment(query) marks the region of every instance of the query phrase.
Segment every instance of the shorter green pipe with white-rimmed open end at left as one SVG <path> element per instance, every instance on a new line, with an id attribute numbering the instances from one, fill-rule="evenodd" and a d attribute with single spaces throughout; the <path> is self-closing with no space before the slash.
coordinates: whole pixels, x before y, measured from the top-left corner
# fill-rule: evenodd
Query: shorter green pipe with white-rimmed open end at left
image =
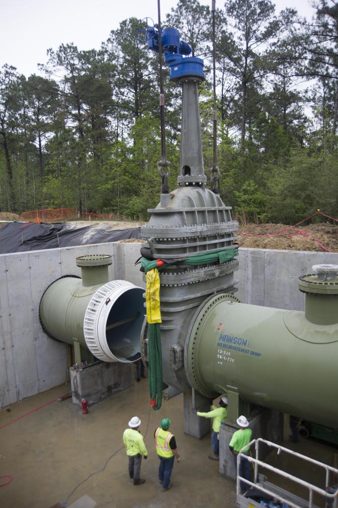
<path id="1" fill-rule="evenodd" d="M 140 352 L 144 319 L 142 288 L 125 280 L 109 282 L 108 255 L 81 256 L 82 278 L 53 282 L 40 302 L 40 321 L 53 338 L 79 342 L 106 362 L 129 362 Z"/>

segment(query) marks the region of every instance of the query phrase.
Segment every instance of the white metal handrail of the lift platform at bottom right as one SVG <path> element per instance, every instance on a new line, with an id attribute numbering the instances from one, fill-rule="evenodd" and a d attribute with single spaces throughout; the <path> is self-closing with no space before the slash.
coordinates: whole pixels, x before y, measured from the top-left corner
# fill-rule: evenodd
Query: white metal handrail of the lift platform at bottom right
<path id="1" fill-rule="evenodd" d="M 282 471 L 281 469 L 271 466 L 270 464 L 267 464 L 266 462 L 263 462 L 263 461 L 258 460 L 256 458 L 253 458 L 253 457 L 250 457 L 250 456 L 245 455 L 243 453 L 243 450 L 247 449 L 248 447 L 251 447 L 252 444 L 255 444 L 256 457 L 259 457 L 259 443 L 260 442 L 267 444 L 267 446 L 270 446 L 272 448 L 276 448 L 278 450 L 278 454 L 281 451 L 283 451 L 283 452 L 288 453 L 289 455 L 293 455 L 294 457 L 298 457 L 298 458 L 305 460 L 307 462 L 311 462 L 312 464 L 315 464 L 315 465 L 325 469 L 325 471 L 326 471 L 325 487 L 326 488 L 329 487 L 329 485 L 328 485 L 329 471 L 331 471 L 335 474 L 338 474 L 338 469 L 336 469 L 332 466 L 329 466 L 327 464 L 324 464 L 323 462 L 319 462 L 318 460 L 307 457 L 306 455 L 301 455 L 300 453 L 293 452 L 292 450 L 289 450 L 288 448 L 284 448 L 284 447 L 280 446 L 279 444 L 273 443 L 271 441 L 267 441 L 266 439 L 262 439 L 261 437 L 259 437 L 257 439 L 253 439 L 249 444 L 247 444 L 245 447 L 243 447 L 237 456 L 237 472 L 238 473 L 240 470 L 239 467 L 240 467 L 241 457 L 243 457 L 243 458 L 245 458 L 245 460 L 248 460 L 249 462 L 253 463 L 254 464 L 254 471 L 255 471 L 254 482 L 250 482 L 249 480 L 246 480 L 245 478 L 242 478 L 242 477 L 240 477 L 239 474 L 237 474 L 237 484 L 236 484 L 237 493 L 239 493 L 240 481 L 242 481 L 247 485 L 256 487 L 259 490 L 261 490 L 262 492 L 279 499 L 281 502 L 287 503 L 289 506 L 292 506 L 293 508 L 302 508 L 298 504 L 295 504 L 290 500 L 284 499 L 281 495 L 277 494 L 276 492 L 272 492 L 272 491 L 266 489 L 265 487 L 262 487 L 261 485 L 257 486 L 258 466 L 261 466 L 265 469 L 268 469 L 269 471 L 273 471 L 273 472 L 281 475 L 282 477 L 284 477 L 288 480 L 291 480 L 291 481 L 309 489 L 309 508 L 313 507 L 313 493 L 314 492 L 316 492 L 317 494 L 320 494 L 321 496 L 324 496 L 325 501 L 332 499 L 332 501 L 333 501 L 332 508 L 337 508 L 338 490 L 334 494 L 329 494 L 326 490 L 321 489 L 320 487 L 317 487 L 316 485 L 306 482 L 305 480 L 301 480 L 300 478 L 297 478 L 290 473 Z"/>

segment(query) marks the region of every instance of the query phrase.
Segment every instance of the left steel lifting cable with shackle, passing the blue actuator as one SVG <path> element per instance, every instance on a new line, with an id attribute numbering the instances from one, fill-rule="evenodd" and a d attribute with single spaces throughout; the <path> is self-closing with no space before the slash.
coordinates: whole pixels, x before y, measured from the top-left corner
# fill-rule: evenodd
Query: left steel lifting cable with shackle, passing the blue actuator
<path id="1" fill-rule="evenodd" d="M 162 194 L 168 194 L 168 176 L 170 162 L 166 160 L 165 143 L 165 117 L 164 117 L 164 90 L 162 73 L 162 27 L 161 27 L 161 6 L 160 0 L 157 0 L 158 13 L 158 62 L 159 62 L 159 85 L 160 85 L 160 121 L 161 121 L 161 161 L 157 163 L 158 173 L 162 178 Z M 165 169 L 165 172 L 163 171 Z"/>

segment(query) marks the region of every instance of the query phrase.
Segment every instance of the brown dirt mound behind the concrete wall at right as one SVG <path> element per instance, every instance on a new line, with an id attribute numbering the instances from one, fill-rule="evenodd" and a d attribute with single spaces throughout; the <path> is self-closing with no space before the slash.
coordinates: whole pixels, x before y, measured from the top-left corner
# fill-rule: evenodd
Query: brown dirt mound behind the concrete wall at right
<path id="1" fill-rule="evenodd" d="M 239 244 L 256 249 L 338 252 L 338 226 L 329 223 L 297 227 L 246 224 L 240 226 Z"/>

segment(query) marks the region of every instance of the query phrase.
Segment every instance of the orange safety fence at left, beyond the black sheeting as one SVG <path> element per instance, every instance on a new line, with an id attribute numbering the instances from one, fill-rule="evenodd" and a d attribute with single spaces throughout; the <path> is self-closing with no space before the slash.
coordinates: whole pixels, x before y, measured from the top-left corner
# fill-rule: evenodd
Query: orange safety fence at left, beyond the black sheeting
<path id="1" fill-rule="evenodd" d="M 82 217 L 79 217 L 79 212 L 75 208 L 43 208 L 21 213 L 22 220 L 39 224 L 77 218 L 110 219 L 111 216 L 108 213 L 82 212 Z"/>

